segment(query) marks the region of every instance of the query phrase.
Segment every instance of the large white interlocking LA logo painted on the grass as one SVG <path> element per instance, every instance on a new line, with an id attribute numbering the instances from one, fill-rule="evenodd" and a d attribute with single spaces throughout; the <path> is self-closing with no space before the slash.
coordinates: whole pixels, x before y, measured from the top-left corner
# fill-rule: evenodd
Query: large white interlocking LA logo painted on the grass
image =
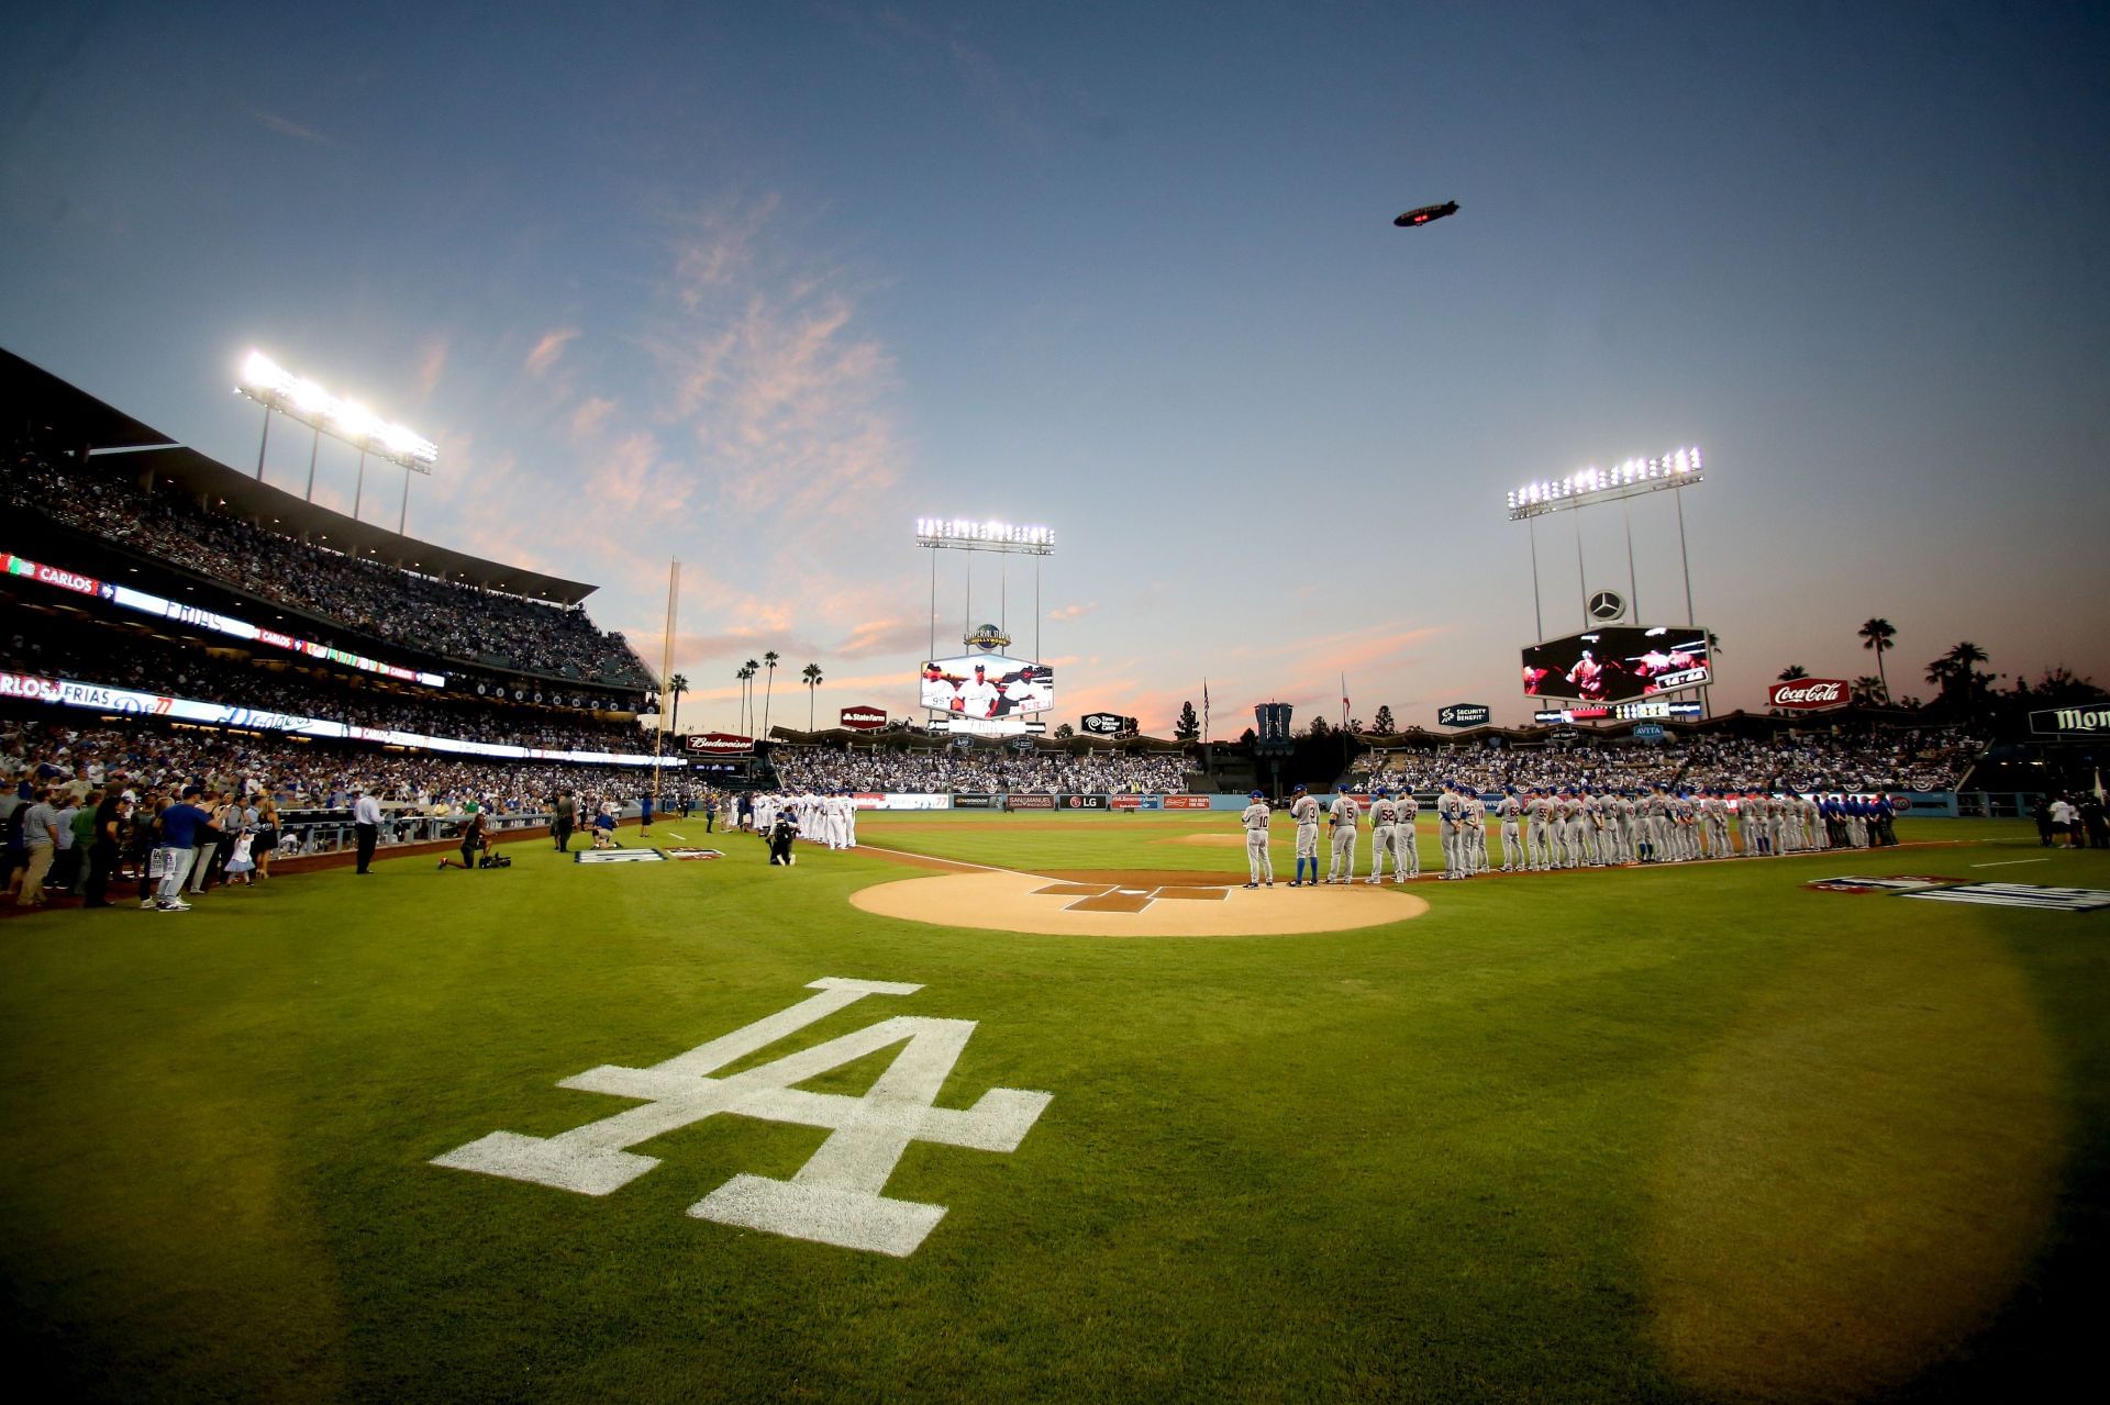
<path id="1" fill-rule="evenodd" d="M 945 1076 L 966 1048 L 968 1036 L 975 1034 L 975 1021 L 912 1015 L 882 1019 L 857 1034 L 844 1034 L 730 1078 L 711 1076 L 865 996 L 914 996 L 922 985 L 821 977 L 806 989 L 821 994 L 665 1063 L 652 1067 L 603 1063 L 557 1084 L 644 1099 L 639 1108 L 574 1127 L 557 1137 L 496 1131 L 435 1156 L 433 1165 L 606 1196 L 658 1165 L 656 1158 L 629 1148 L 720 1112 L 825 1127 L 827 1141 L 789 1181 L 734 1175 L 690 1205 L 688 1213 L 696 1219 L 905 1257 L 945 1217 L 943 1205 L 890 1200 L 880 1194 L 909 1141 L 1015 1152 L 1053 1095 L 990 1089 L 964 1112 L 939 1108 L 937 1093 L 945 1086 Z M 903 1048 L 863 1097 L 793 1086 L 888 1044 Z"/>

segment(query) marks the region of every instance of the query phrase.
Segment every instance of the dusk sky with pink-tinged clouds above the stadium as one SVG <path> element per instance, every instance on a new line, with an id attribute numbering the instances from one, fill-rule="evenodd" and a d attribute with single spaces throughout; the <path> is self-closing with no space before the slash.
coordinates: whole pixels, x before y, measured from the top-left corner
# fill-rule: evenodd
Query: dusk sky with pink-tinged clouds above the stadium
<path id="1" fill-rule="evenodd" d="M 1960 639 L 2110 681 L 2110 8 L 11 4 L 0 346 L 253 466 L 251 348 L 441 445 L 414 536 L 593 580 L 684 724 L 914 709 L 918 517 L 1057 719 L 1530 717 L 1502 496 L 1696 443 L 1637 601 L 1715 707 Z M 1458 200 L 1422 230 L 1399 211 Z M 300 489 L 306 432 L 266 477 Z M 323 441 L 319 500 L 357 456 Z M 365 515 L 395 523 L 390 470 Z M 1538 523 L 1547 633 L 1627 586 Z M 939 574 L 939 652 L 964 620 Z M 975 559 L 975 618 L 998 565 Z"/>

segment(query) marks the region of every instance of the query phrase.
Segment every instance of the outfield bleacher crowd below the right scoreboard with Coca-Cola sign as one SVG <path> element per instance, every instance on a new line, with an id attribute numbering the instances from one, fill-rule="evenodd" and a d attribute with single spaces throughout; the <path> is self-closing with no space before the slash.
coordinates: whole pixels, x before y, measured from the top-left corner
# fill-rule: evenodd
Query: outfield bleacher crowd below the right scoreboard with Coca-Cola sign
<path id="1" fill-rule="evenodd" d="M 1504 785 L 1587 785 L 1865 793 L 1943 791 L 1981 743 L 1956 728 L 1863 736 L 1680 736 L 1661 743 L 1604 740 L 1566 747 L 1426 747 L 1357 757 L 1350 781 L 1433 791 L 1445 781 L 1498 791 Z"/>

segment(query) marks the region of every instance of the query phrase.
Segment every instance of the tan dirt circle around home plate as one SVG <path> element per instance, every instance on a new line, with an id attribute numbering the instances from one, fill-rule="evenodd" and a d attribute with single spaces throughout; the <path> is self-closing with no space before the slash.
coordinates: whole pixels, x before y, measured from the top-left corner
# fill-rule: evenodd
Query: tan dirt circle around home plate
<path id="1" fill-rule="evenodd" d="M 1135 882 L 1127 882 L 1133 878 Z M 1393 884 L 1289 888 L 1224 886 L 1209 873 L 1167 884 L 1163 873 L 943 873 L 874 884 L 850 894 L 882 918 L 1057 937 L 1293 937 L 1405 922 L 1428 903 Z"/>

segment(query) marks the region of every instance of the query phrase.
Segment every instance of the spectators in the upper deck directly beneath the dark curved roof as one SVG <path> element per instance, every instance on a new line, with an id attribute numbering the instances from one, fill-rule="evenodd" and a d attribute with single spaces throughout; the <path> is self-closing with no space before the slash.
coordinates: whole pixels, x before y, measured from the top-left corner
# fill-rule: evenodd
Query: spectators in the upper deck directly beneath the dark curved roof
<path id="1" fill-rule="evenodd" d="M 625 637 L 597 629 L 582 605 L 551 605 L 359 561 L 207 511 L 173 487 L 143 489 L 99 460 L 76 466 L 17 451 L 0 475 L 0 502 L 8 513 L 42 513 L 378 641 L 485 667 L 652 688 L 650 671 Z M 17 548 L 27 553 L 30 542 Z"/>

